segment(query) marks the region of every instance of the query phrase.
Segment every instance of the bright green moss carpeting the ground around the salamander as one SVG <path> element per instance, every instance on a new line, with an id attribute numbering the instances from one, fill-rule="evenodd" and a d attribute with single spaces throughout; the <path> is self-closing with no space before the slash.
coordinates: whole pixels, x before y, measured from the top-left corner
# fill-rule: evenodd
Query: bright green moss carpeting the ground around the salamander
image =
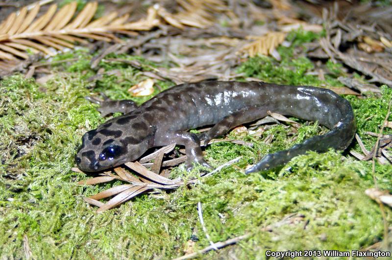
<path id="1" fill-rule="evenodd" d="M 341 66 L 328 62 L 325 80 L 307 71 L 314 64 L 305 57 L 294 57 L 301 47 L 317 35 L 301 31 L 291 34 L 292 47 L 280 47 L 281 62 L 255 57 L 239 68 L 245 77 L 296 85 L 339 86 L 344 75 Z M 349 154 L 329 151 L 308 153 L 294 158 L 281 169 L 245 176 L 248 164 L 263 155 L 292 146 L 293 139 L 325 131 L 316 124 L 303 124 L 298 134 L 277 125 L 261 137 L 229 134 L 252 142 L 252 147 L 219 142 L 206 148 L 206 159 L 218 166 L 242 156 L 235 165 L 203 178 L 193 188 L 138 196 L 101 214 L 83 201 L 120 182 L 97 186 L 78 186 L 91 176 L 75 173 L 74 155 L 81 136 L 105 119 L 86 95 L 104 92 L 113 99 L 129 98 L 127 89 L 144 79 L 141 70 L 122 63 L 102 61 L 106 73 L 100 79 L 89 66 L 91 54 L 80 49 L 58 55 L 54 60 L 78 61 L 51 67 L 54 77 L 39 85 L 34 79 L 13 75 L 0 82 L 0 255 L 3 259 L 170 259 L 209 245 L 197 215 L 201 202 L 207 232 L 215 242 L 250 232 L 249 239 L 203 258 L 264 259 L 266 250 L 366 249 L 381 242 L 384 224 L 379 205 L 365 195 L 375 186 L 371 161 L 358 161 Z M 241 80 L 241 78 L 239 78 Z M 157 83 L 162 90 L 172 82 Z M 158 92 L 156 88 L 155 94 Z M 358 134 L 370 150 L 392 99 L 392 89 L 382 86 L 381 96 L 344 96 L 353 108 Z M 134 98 L 141 103 L 149 97 Z M 389 118 L 391 121 L 392 118 Z M 303 121 L 300 121 L 304 123 Z M 385 134 L 392 134 L 385 128 Z M 274 140 L 263 140 L 270 134 Z M 351 149 L 360 152 L 353 142 Z M 175 168 L 173 174 L 184 174 Z M 186 173 L 185 173 L 186 174 Z M 380 189 L 392 189 L 392 166 L 375 166 Z M 391 209 L 384 207 L 391 226 Z M 292 216 L 287 221 L 282 221 Z M 266 231 L 264 228 L 269 227 Z M 392 240 L 390 237 L 389 241 Z M 31 249 L 29 251 L 27 243 Z M 391 244 L 389 249 L 391 249 Z"/>

